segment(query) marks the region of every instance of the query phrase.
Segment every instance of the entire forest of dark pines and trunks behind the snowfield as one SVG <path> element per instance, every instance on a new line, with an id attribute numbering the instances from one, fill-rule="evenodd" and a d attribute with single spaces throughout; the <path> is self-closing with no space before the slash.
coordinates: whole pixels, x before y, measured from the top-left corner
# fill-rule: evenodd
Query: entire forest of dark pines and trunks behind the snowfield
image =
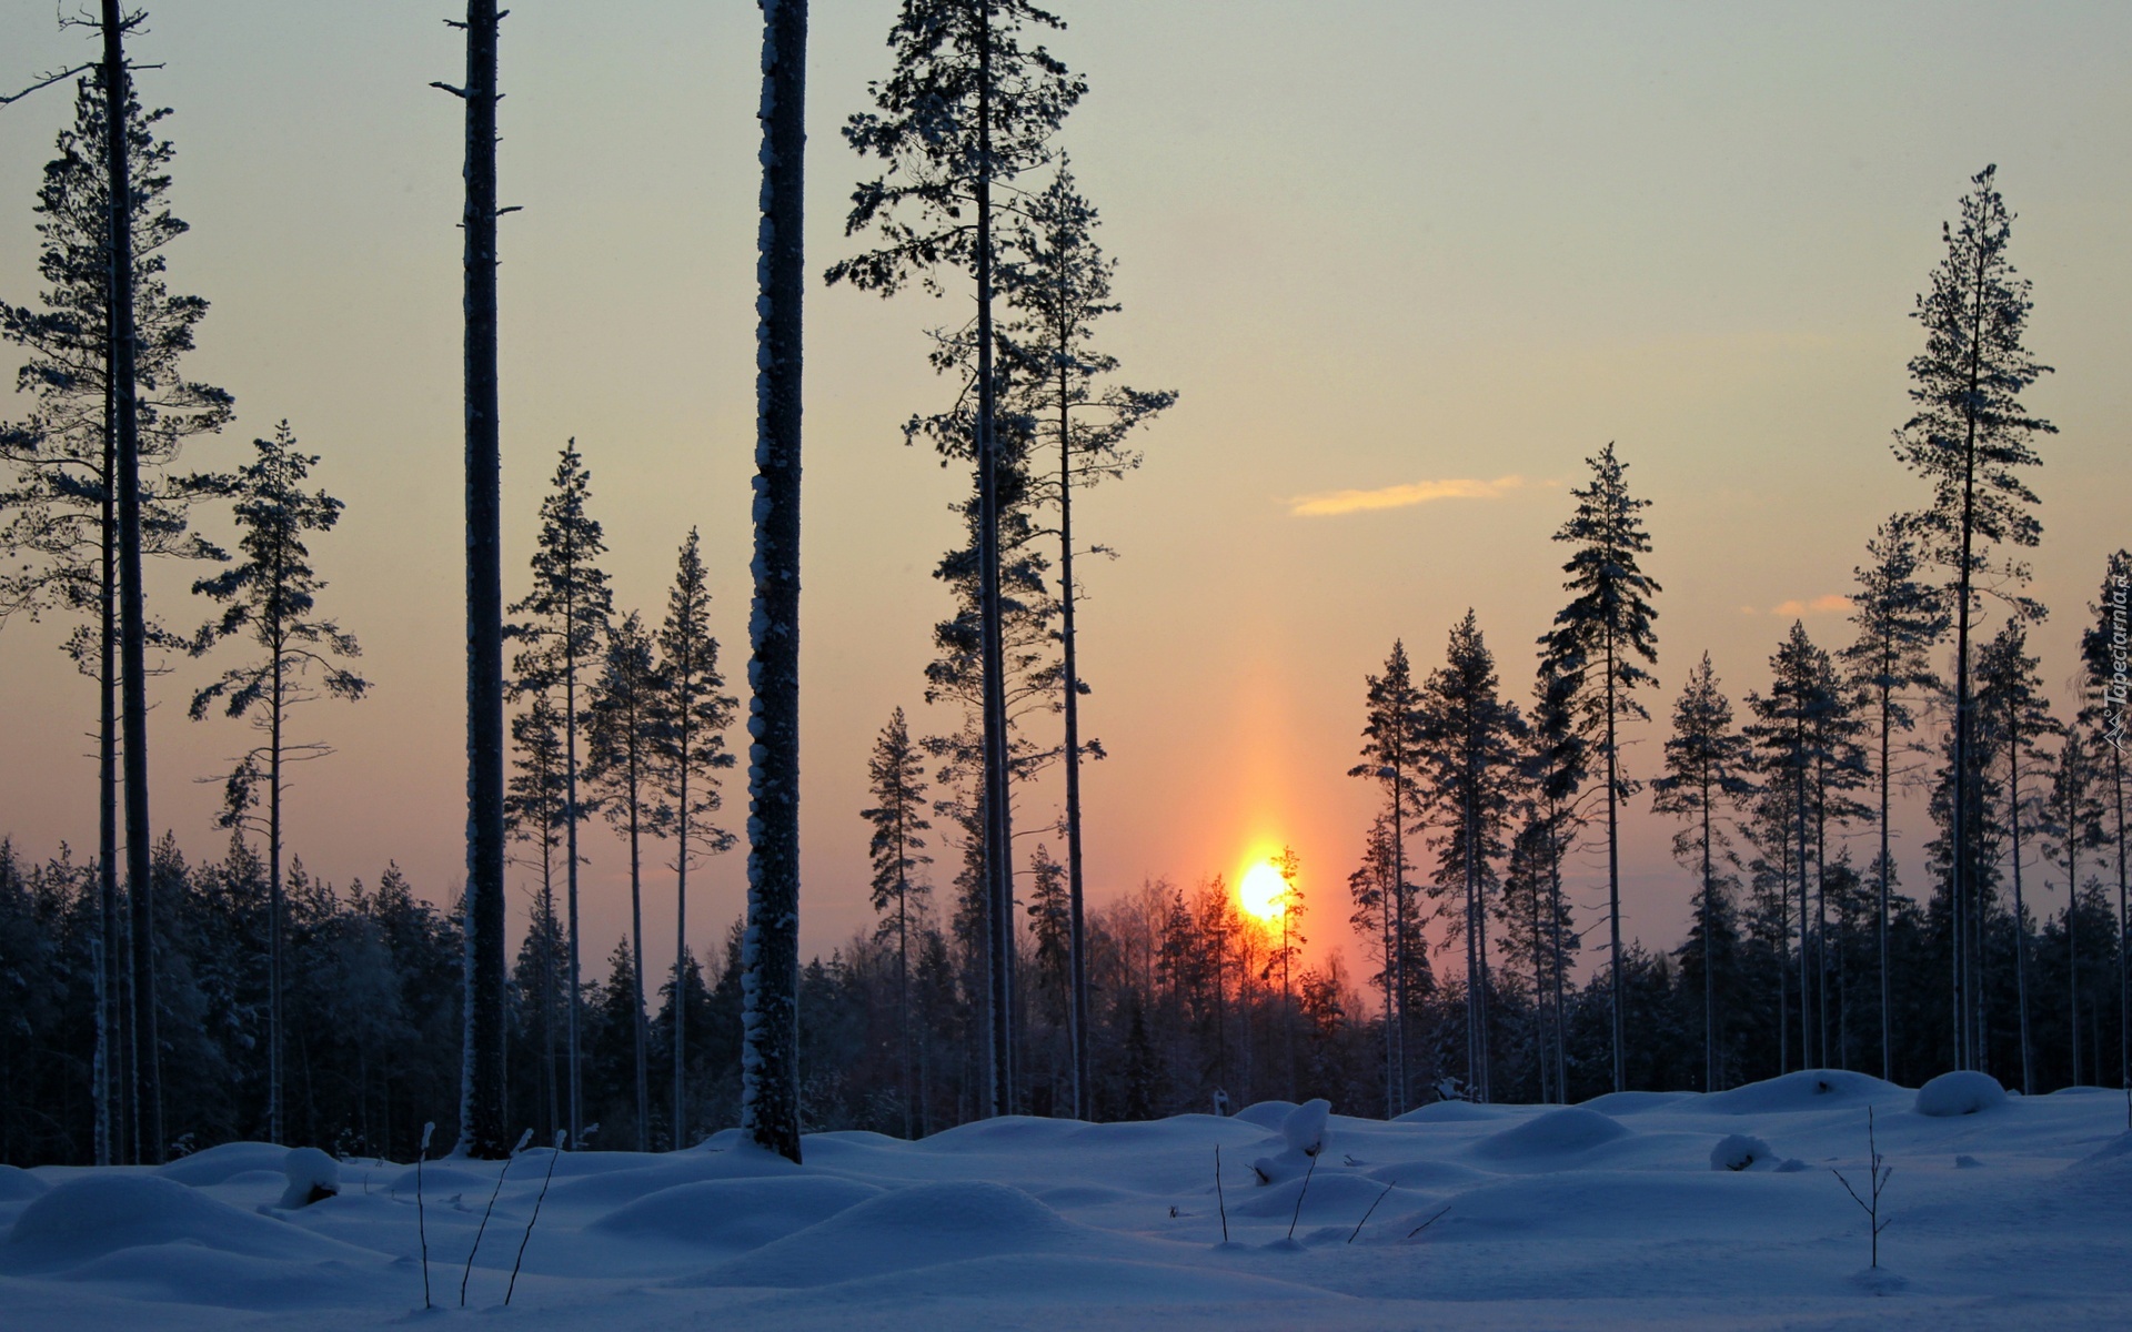
<path id="1" fill-rule="evenodd" d="M 2132 556 L 2096 552 L 2079 661 L 2057 663 L 2072 682 L 2053 691 L 2025 563 L 2053 426 L 2023 394 L 2049 367 L 2023 343 L 2032 294 L 1993 168 L 1912 311 L 1923 347 L 1893 439 L 1912 490 L 1891 469 L 1897 511 L 1861 533 L 1840 639 L 1795 622 L 1744 691 L 1710 652 L 1669 654 L 1686 669 L 1661 691 L 1650 501 L 1608 443 L 1556 533 L 1565 603 L 1529 686 L 1475 612 L 1437 665 L 1396 639 L 1364 673 L 1356 763 L 1324 774 L 1382 797 L 1352 865 L 1283 852 L 1264 910 L 1220 876 L 1089 899 L 1083 840 L 1102 829 L 1083 827 L 1081 782 L 1104 746 L 1081 716 L 1077 561 L 1113 552 L 1075 499 L 1141 465 L 1177 392 L 1126 384 L 1102 350 L 1117 260 L 1062 143 L 1087 85 L 1040 45 L 1062 19 L 1025 0 L 906 0 L 891 72 L 844 126 L 878 175 L 851 194 L 855 254 L 823 277 L 968 296 L 966 320 L 932 330 L 947 405 L 904 439 L 972 488 L 934 569 L 949 612 L 912 682 L 923 712 L 898 708 L 870 754 L 840 759 L 868 774 L 868 808 L 838 816 L 870 833 L 876 919 L 800 968 L 804 271 L 797 113 L 778 107 L 802 102 L 806 11 L 763 13 L 755 601 L 731 671 L 753 746 L 697 531 L 674 533 L 663 605 L 616 603 L 595 448 L 561 445 L 531 569 L 495 563 L 492 0 L 469 0 L 467 83 L 437 85 L 469 117 L 469 878 L 439 910 L 390 865 L 328 884 L 284 833 L 288 765 L 330 754 L 311 703 L 371 693 L 311 554 L 343 505 L 288 422 L 239 462 L 179 469 L 235 401 L 183 375 L 209 307 L 164 277 L 185 232 L 175 149 L 130 90 L 136 17 L 104 6 L 107 55 L 75 83 L 34 202 L 41 298 L 0 307 L 32 403 L 0 431 L 0 620 L 64 618 L 98 695 L 96 850 L 32 863 L 0 842 L 0 1159 L 256 1136 L 405 1157 L 429 1121 L 473 1155 L 507 1153 L 518 1127 L 667 1149 L 742 1123 L 797 1157 L 800 1130 L 1309 1095 L 1399 1115 L 1816 1066 L 2132 1083 Z M 196 524 L 222 507 L 235 550 Z M 143 558 L 194 561 L 196 601 L 149 616 Z M 194 720 L 249 727 L 226 771 L 200 774 L 224 791 L 220 861 L 149 840 L 145 682 L 164 669 Z M 1633 752 L 1652 708 L 1663 748 Z M 746 821 L 727 812 L 742 757 Z M 1057 810 L 1038 778 L 1060 782 Z M 1902 793 L 1923 793 L 1925 827 L 1895 827 Z M 629 857 L 629 929 L 605 955 L 580 931 L 593 821 Z M 1625 821 L 1674 831 L 1691 919 L 1674 948 L 1622 927 Z M 748 914 L 697 957 L 691 872 L 738 852 L 740 829 Z M 1923 882 L 1900 880 L 1897 838 L 1923 844 Z M 507 874 L 531 901 L 510 940 Z M 646 912 L 672 912 L 672 957 L 646 955 Z"/>

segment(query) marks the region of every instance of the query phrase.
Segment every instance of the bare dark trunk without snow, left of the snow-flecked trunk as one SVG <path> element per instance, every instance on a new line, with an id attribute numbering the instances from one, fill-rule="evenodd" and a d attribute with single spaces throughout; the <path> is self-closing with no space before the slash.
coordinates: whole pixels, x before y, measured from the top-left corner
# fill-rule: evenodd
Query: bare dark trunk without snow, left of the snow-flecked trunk
<path id="1" fill-rule="evenodd" d="M 115 2 L 115 0 L 113 0 Z M 503 450 L 497 424 L 497 0 L 467 0 L 463 237 L 467 399 L 467 1034 L 458 1138 L 510 1155 L 503 1049 Z"/>

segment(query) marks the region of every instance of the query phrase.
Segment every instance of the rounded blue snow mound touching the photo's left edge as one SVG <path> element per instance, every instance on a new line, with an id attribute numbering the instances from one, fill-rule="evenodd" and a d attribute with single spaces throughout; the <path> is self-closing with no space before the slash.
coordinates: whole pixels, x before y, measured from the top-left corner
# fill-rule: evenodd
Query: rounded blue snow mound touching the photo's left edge
<path id="1" fill-rule="evenodd" d="M 284 1262 L 375 1257 L 154 1174 L 92 1174 L 21 1208 L 0 1245 L 0 1270 L 70 1268 L 122 1249 L 175 1242 Z"/>

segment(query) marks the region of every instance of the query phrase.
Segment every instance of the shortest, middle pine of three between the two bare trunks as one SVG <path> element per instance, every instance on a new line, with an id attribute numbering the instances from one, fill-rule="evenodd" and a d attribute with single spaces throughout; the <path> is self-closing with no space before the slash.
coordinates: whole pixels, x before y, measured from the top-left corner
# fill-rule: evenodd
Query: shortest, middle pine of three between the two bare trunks
<path id="1" fill-rule="evenodd" d="M 659 712 L 659 661 L 637 612 L 608 631 L 599 680 L 586 705 L 584 780 L 599 793 L 608 823 L 629 835 L 629 940 L 631 976 L 637 985 L 635 1021 L 635 1115 L 637 1142 L 652 1140 L 650 1127 L 650 1027 L 644 1008 L 644 835 L 652 821 L 655 746 Z M 648 1147 L 646 1147 L 648 1149 Z"/>

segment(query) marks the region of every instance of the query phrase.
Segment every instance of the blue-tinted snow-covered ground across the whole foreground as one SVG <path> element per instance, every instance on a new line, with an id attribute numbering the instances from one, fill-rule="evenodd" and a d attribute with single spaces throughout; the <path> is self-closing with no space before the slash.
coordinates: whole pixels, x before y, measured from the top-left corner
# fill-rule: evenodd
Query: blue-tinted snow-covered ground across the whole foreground
<path id="1" fill-rule="evenodd" d="M 1307 1123 L 1283 1138 L 1283 1102 L 923 1142 L 814 1134 L 806 1166 L 727 1132 L 672 1155 L 520 1155 L 486 1230 L 497 1166 L 431 1162 L 429 1315 L 411 1166 L 341 1162 L 339 1193 L 301 1208 L 281 1204 L 333 1170 L 260 1142 L 160 1170 L 0 1166 L 0 1326 L 2132 1326 L 2123 1093 L 1991 1102 L 1940 1087 L 1925 1108 L 1983 1108 L 1921 1115 L 1915 1091 L 1844 1072 L 1576 1108 L 1445 1102 L 1335 1115 L 1315 1166 L 1292 1144 Z M 1878 1274 L 1829 1174 L 1866 1189 L 1868 1106 L 1893 1166 Z"/>

